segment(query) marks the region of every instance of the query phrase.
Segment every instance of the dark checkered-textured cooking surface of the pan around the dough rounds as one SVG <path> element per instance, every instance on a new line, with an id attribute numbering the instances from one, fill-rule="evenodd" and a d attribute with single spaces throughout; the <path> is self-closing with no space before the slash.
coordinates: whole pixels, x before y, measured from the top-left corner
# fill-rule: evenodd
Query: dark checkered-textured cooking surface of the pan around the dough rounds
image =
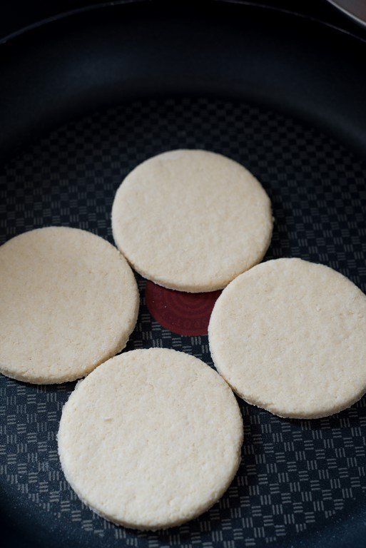
<path id="1" fill-rule="evenodd" d="M 266 259 L 299 256 L 340 270 L 366 290 L 366 169 L 330 138 L 271 111 L 230 101 L 136 101 L 93 113 L 44 138 L 0 178 L 0 243 L 44 225 L 112 240 L 113 195 L 138 163 L 173 148 L 207 148 L 243 163 L 273 201 Z M 144 302 L 128 350 L 172 347 L 212 365 L 207 337 L 161 328 Z M 365 399 L 315 421 L 281 420 L 240 402 L 243 460 L 224 497 L 163 533 L 116 527 L 86 508 L 60 470 L 56 432 L 73 384 L 0 378 L 0 482 L 24 512 L 69 546 L 263 547 L 340 519 L 365 497 Z M 90 544 L 91 543 L 91 544 Z"/>

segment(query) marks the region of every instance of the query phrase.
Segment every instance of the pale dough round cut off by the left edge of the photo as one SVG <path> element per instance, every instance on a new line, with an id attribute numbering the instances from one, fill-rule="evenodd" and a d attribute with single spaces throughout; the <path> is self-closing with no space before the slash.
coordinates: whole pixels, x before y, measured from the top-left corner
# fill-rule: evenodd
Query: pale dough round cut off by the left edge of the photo
<path id="1" fill-rule="evenodd" d="M 75 380 L 125 347 L 138 315 L 126 259 L 85 230 L 31 230 L 0 247 L 0 372 Z"/>

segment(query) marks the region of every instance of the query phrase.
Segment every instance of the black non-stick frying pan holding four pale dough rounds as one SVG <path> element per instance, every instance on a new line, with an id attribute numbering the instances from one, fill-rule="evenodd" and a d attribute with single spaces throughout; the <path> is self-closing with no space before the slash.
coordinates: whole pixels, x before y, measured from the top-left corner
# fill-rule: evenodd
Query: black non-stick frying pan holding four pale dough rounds
<path id="1" fill-rule="evenodd" d="M 365 59 L 360 36 L 249 3 L 104 4 L 12 36 L 0 48 L 1 243 L 51 224 L 113 241 L 111 203 L 131 168 L 207 148 L 268 191 L 265 260 L 325 263 L 365 291 Z M 137 278 L 127 349 L 173 347 L 213 365 L 207 335 L 163 328 Z M 106 522 L 68 487 L 56 432 L 73 386 L 0 379 L 6 546 L 365 545 L 365 398 L 312 421 L 240 401 L 243 460 L 228 492 L 199 519 L 151 534 Z"/>

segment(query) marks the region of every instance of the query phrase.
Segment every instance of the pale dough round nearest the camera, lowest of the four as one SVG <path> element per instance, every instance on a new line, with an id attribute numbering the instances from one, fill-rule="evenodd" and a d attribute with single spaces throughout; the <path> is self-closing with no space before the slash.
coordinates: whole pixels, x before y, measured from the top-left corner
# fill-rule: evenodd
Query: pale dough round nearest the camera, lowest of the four
<path id="1" fill-rule="evenodd" d="M 228 384 L 198 358 L 133 350 L 78 383 L 58 442 L 66 480 L 85 504 L 125 527 L 165 529 L 228 489 L 243 421 Z"/>

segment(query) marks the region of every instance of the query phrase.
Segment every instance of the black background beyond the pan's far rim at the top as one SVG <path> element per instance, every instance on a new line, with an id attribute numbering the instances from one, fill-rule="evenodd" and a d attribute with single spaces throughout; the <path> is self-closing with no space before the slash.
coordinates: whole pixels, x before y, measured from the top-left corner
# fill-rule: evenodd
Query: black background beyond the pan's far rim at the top
<path id="1" fill-rule="evenodd" d="M 151 0 L 159 1 L 159 0 Z M 181 0 L 171 0 L 176 4 Z M 190 0 L 183 0 L 187 4 Z M 215 0 L 212 0 L 215 1 Z M 240 1 L 240 0 L 238 0 Z M 265 4 L 268 6 L 280 6 L 283 9 L 297 11 L 318 19 L 342 26 L 357 34 L 366 35 L 366 32 L 357 24 L 353 23 L 343 14 L 340 14 L 335 7 L 327 0 L 252 0 L 253 3 Z M 0 37 L 12 34 L 25 26 L 32 25 L 42 19 L 57 16 L 66 11 L 82 9 L 86 6 L 102 4 L 102 0 L 1 0 L 0 3 Z M 195 0 L 198 6 L 200 0 Z M 170 2 L 171 4 L 171 2 Z"/>

